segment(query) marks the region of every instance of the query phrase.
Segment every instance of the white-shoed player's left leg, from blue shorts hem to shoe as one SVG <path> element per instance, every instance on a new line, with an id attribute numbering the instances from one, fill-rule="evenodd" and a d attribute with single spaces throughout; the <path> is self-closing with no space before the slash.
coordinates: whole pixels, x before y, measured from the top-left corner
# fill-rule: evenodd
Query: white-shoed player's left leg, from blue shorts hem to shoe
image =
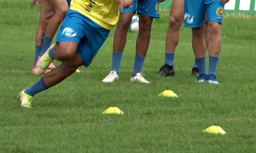
<path id="1" fill-rule="evenodd" d="M 132 16 L 137 10 L 137 1 L 133 0 L 132 6 L 120 12 L 119 20 L 114 34 L 112 67 L 110 73 L 102 80 L 103 83 L 111 83 L 118 80 L 119 66 L 125 48 L 127 32 L 130 26 Z"/>

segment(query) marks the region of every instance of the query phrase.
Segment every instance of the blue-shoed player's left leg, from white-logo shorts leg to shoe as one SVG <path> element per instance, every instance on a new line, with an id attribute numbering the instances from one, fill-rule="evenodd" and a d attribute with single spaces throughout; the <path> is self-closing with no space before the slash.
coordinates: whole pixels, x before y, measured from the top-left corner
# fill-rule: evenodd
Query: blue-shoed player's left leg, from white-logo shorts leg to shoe
<path id="1" fill-rule="evenodd" d="M 207 70 L 205 64 L 205 43 L 204 43 L 204 18 L 205 8 L 204 0 L 197 2 L 185 0 L 185 27 L 192 29 L 192 47 L 194 50 L 196 63 L 199 69 L 199 77 L 197 82 L 204 82 L 207 79 Z"/>

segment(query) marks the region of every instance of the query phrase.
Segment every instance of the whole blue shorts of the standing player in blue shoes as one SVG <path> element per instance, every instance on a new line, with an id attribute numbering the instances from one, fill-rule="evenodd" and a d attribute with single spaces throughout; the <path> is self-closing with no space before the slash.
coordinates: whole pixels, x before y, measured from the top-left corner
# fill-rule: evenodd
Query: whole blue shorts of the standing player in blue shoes
<path id="1" fill-rule="evenodd" d="M 184 23 L 185 27 L 197 28 L 204 24 L 205 13 L 208 21 L 222 24 L 224 5 L 219 0 L 185 0 Z"/>

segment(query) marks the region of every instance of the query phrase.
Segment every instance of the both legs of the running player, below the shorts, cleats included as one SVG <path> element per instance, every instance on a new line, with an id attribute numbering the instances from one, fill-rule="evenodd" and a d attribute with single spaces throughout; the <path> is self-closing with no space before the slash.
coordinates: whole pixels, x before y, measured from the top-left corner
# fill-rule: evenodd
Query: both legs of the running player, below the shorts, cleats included
<path id="1" fill-rule="evenodd" d="M 83 65 L 79 54 L 76 52 L 76 48 L 77 43 L 66 41 L 60 42 L 47 50 L 42 58 L 40 58 L 40 64 L 37 63 L 37 67 L 46 69 L 51 63 L 51 60 L 54 59 L 62 61 L 62 63 L 57 68 L 45 74 L 40 81 L 20 92 L 19 100 L 23 107 L 31 108 L 32 97 L 35 94 L 60 83 L 68 76 L 73 74 L 78 67 Z M 44 70 L 42 70 L 42 72 L 43 71 Z M 37 73 L 37 69 L 35 70 L 35 73 Z"/>

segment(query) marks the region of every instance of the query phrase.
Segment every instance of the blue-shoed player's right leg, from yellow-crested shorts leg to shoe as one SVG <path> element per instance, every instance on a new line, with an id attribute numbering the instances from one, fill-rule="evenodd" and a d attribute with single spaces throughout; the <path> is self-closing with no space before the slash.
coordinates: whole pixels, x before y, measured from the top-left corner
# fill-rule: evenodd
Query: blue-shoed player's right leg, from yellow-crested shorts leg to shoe
<path id="1" fill-rule="evenodd" d="M 208 82 L 218 84 L 216 79 L 216 67 L 219 53 L 221 51 L 221 24 L 223 18 L 224 5 L 218 0 L 206 1 L 207 16 L 209 22 L 210 42 L 209 42 L 209 70 Z"/>

